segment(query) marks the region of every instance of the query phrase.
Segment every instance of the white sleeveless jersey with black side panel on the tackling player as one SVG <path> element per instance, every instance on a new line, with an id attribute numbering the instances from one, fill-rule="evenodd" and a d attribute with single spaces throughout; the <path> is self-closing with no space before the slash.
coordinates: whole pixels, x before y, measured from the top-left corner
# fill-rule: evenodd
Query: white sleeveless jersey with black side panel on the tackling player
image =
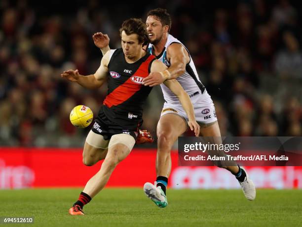
<path id="1" fill-rule="evenodd" d="M 156 56 L 156 58 L 158 60 L 163 62 L 168 67 L 171 64 L 167 60 L 167 52 L 166 51 L 167 51 L 167 47 L 169 45 L 173 44 L 173 43 L 179 43 L 179 44 L 183 45 L 178 39 L 174 38 L 172 35 L 169 34 L 166 45 L 164 47 L 164 50 L 158 56 Z M 183 46 L 185 47 L 185 45 L 183 45 Z M 188 51 L 188 49 L 187 49 L 187 51 Z M 152 44 L 148 45 L 147 52 L 155 55 L 154 52 L 153 52 L 153 45 Z M 188 53 L 189 53 L 189 51 L 188 51 Z M 189 55 L 189 57 L 190 57 L 190 61 L 186 65 L 186 71 L 183 75 L 181 75 L 177 78 L 177 81 L 180 83 L 180 85 L 183 87 L 183 89 L 188 93 L 188 95 L 190 97 L 200 94 L 200 95 L 198 95 L 198 96 L 200 96 L 200 98 L 198 98 L 199 99 L 199 101 L 198 101 L 199 106 L 200 105 L 204 105 L 204 106 L 209 105 L 210 103 L 212 103 L 211 97 L 205 91 L 205 87 L 200 82 L 197 71 L 196 71 L 196 68 L 195 68 L 195 65 L 193 63 L 193 60 L 192 60 L 190 55 Z M 181 103 L 180 103 L 179 99 L 177 98 L 177 96 L 170 89 L 168 89 L 164 84 L 161 84 L 160 86 L 161 86 L 161 89 L 162 89 L 162 92 L 163 92 L 164 99 L 167 103 L 174 104 L 174 105 L 181 105 Z M 201 94 L 203 94 L 203 95 L 201 95 Z M 200 100 L 200 99 L 203 99 L 203 100 Z M 192 104 L 194 105 L 194 103 L 192 103 Z"/>

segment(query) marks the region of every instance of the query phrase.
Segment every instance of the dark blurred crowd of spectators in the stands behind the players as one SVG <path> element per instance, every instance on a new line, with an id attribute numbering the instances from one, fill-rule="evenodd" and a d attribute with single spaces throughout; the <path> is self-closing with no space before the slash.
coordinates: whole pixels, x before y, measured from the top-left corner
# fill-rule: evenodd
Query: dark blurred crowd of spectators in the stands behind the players
<path id="1" fill-rule="evenodd" d="M 93 74 L 102 54 L 92 35 L 108 34 L 111 48 L 120 47 L 122 21 L 145 20 L 155 7 L 170 12 L 171 34 L 189 49 L 214 100 L 222 136 L 302 136 L 302 21 L 291 1 L 201 8 L 194 0 L 139 8 L 98 0 L 68 8 L 57 0 L 43 4 L 0 2 L 0 145 L 82 146 L 89 128 L 72 126 L 70 111 L 85 104 L 96 115 L 107 86 L 89 91 L 63 80 L 61 72 Z M 143 124 L 154 136 L 162 104 L 156 87 Z"/>

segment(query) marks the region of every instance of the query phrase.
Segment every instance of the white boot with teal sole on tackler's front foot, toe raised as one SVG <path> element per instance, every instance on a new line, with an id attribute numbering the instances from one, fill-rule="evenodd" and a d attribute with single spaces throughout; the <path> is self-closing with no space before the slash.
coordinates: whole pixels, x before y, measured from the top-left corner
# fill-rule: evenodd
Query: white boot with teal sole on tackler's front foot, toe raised
<path id="1" fill-rule="evenodd" d="M 147 182 L 144 184 L 145 194 L 160 208 L 164 208 L 168 205 L 167 197 L 160 186 L 156 187 L 154 184 Z"/>

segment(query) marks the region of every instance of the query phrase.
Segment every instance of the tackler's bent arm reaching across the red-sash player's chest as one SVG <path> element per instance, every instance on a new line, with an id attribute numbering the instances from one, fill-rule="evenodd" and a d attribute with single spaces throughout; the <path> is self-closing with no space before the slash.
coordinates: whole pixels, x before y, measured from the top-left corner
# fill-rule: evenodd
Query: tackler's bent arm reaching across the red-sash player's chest
<path id="1" fill-rule="evenodd" d="M 185 46 L 181 44 L 171 44 L 167 48 L 167 56 L 170 57 L 170 67 L 162 72 L 150 73 L 143 80 L 145 86 L 156 86 L 163 83 L 164 80 L 176 79 L 186 72 L 186 65 L 190 57 Z"/>

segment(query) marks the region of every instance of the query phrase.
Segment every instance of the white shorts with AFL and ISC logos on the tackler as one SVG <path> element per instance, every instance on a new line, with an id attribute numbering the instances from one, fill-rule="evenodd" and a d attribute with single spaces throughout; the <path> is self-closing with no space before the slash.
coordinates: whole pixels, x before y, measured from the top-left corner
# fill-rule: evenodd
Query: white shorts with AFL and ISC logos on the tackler
<path id="1" fill-rule="evenodd" d="M 203 94 L 189 95 L 190 100 L 194 106 L 195 118 L 198 123 L 210 124 L 217 121 L 214 103 L 211 96 L 204 91 Z M 187 122 L 189 121 L 186 111 L 180 103 L 167 103 L 165 102 L 160 114 L 160 117 L 165 114 L 177 114 L 184 118 Z"/>

